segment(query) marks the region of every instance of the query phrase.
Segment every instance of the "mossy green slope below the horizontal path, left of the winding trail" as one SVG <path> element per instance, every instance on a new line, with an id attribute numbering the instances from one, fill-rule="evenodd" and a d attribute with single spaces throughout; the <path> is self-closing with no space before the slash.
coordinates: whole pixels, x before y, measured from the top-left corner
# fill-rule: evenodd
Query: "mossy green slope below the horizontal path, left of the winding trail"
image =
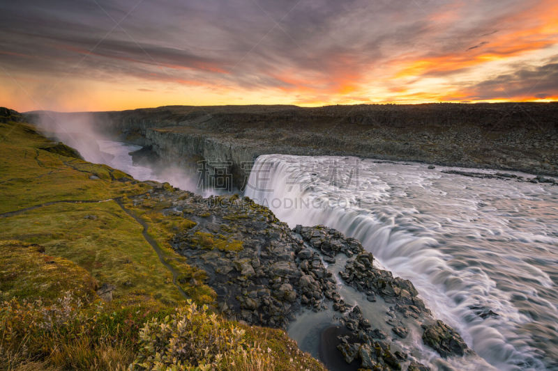
<path id="1" fill-rule="evenodd" d="M 84 267 L 99 283 L 116 286 L 114 295 L 160 293 L 180 301 L 172 274 L 142 236 L 142 226 L 114 202 L 56 204 L 3 219 L 0 239 L 45 246 L 46 253 Z"/>

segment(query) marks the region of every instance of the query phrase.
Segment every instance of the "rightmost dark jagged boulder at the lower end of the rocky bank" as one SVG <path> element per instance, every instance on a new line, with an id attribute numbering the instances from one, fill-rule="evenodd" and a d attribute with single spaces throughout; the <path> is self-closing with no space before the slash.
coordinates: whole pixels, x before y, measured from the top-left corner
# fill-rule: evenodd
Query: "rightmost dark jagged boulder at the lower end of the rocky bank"
<path id="1" fill-rule="evenodd" d="M 448 356 L 464 356 L 472 353 L 459 334 L 444 322 L 437 320 L 435 324 L 423 325 L 423 341 L 435 349 L 444 358 Z"/>

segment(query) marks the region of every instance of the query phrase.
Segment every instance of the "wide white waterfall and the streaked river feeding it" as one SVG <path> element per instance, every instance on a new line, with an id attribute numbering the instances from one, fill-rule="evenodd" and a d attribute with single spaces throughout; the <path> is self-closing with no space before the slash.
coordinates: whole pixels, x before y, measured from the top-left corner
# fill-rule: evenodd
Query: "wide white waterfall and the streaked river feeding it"
<path id="1" fill-rule="evenodd" d="M 558 368 L 558 187 L 444 169 L 264 155 L 246 196 L 359 239 L 498 370 Z"/>

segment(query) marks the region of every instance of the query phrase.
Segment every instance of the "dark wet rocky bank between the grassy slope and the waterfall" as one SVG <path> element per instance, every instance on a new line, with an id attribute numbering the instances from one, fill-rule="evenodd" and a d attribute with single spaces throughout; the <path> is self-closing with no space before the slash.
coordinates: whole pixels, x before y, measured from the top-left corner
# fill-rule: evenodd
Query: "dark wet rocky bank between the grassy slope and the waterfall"
<path id="1" fill-rule="evenodd" d="M 249 198 L 202 198 L 163 186 L 128 204 L 138 210 L 163 205 L 164 216 L 192 223 L 174 234 L 171 245 L 188 264 L 206 272 L 205 283 L 217 294 L 216 307 L 229 319 L 287 328 L 301 310 L 333 308 L 338 315 L 331 317 L 331 326 L 341 324 L 345 330 L 324 341 L 335 345 L 347 365 L 356 361 L 364 369 L 426 370 L 416 352 L 398 345 L 409 331 L 421 331 L 423 344 L 444 358 L 472 354 L 458 333 L 432 317 L 411 282 L 375 267 L 372 254 L 337 230 L 291 230 Z M 340 256 L 348 260 L 337 274 L 332 268 Z M 189 280 L 197 284 L 196 278 Z M 384 301 L 387 310 L 365 317 L 359 306 L 345 303 L 339 280 L 365 293 L 368 301 Z M 391 333 L 372 326 L 378 322 L 386 322 Z"/>

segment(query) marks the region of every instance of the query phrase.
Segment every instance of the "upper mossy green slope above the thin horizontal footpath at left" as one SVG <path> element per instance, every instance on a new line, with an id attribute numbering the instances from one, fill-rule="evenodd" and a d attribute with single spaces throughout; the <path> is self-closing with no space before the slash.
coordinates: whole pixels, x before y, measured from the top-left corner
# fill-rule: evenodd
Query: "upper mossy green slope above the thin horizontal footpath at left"
<path id="1" fill-rule="evenodd" d="M 50 145 L 28 125 L 0 123 L 0 213 L 59 200 L 107 200 L 151 188 L 113 182 L 111 172 L 116 171 L 110 167 L 42 149 Z M 91 180 L 91 175 L 101 179 Z"/>

